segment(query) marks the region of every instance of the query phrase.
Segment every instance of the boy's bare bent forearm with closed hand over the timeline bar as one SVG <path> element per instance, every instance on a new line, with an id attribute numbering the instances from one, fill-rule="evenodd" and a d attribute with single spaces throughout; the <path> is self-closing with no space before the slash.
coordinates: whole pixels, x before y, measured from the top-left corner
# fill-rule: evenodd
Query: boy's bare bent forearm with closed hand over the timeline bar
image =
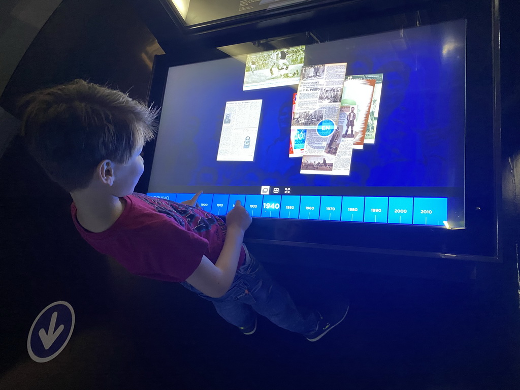
<path id="1" fill-rule="evenodd" d="M 202 293 L 214 298 L 224 295 L 237 272 L 244 232 L 251 225 L 251 216 L 239 200 L 226 216 L 227 233 L 222 252 L 213 264 L 206 256 L 186 281 Z"/>

